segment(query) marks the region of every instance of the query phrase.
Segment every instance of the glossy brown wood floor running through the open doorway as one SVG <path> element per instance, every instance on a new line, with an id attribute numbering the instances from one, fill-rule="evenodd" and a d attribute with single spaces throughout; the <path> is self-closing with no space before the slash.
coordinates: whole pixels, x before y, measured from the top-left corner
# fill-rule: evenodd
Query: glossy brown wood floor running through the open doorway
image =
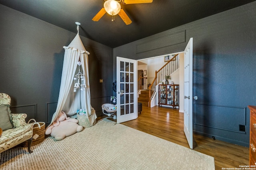
<path id="1" fill-rule="evenodd" d="M 139 131 L 189 148 L 183 131 L 183 113 L 168 107 L 142 107 L 135 120 L 122 123 Z M 194 150 L 213 156 L 216 170 L 249 164 L 249 148 L 194 134 Z"/>

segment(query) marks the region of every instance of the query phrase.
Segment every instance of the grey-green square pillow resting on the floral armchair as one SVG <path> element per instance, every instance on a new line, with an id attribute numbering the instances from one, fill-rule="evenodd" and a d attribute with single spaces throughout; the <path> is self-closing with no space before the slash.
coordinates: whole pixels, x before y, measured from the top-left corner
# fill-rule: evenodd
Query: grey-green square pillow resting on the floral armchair
<path id="1" fill-rule="evenodd" d="M 5 104 L 0 105 L 0 127 L 2 131 L 5 131 L 7 129 L 12 129 L 10 113 L 11 113 L 11 110 L 9 105 L 5 105 Z"/>

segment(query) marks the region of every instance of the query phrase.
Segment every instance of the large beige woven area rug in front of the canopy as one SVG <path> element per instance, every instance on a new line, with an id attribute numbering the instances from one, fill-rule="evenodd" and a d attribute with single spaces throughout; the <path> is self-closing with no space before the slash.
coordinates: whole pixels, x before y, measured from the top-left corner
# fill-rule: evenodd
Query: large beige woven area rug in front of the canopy
<path id="1" fill-rule="evenodd" d="M 1 170 L 214 170 L 214 158 L 104 119 L 62 141 L 2 152 Z"/>

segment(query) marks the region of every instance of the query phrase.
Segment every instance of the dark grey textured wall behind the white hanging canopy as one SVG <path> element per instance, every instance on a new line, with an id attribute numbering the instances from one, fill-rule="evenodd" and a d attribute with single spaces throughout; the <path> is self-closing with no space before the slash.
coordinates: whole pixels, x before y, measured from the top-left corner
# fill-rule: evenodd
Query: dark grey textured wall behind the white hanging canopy
<path id="1" fill-rule="evenodd" d="M 58 102 L 63 46 L 76 34 L 3 5 L 0 23 L 0 92 L 11 96 L 12 112 L 49 122 Z M 91 105 L 101 115 L 101 104 L 112 95 L 113 49 L 81 39 L 90 52 Z"/>

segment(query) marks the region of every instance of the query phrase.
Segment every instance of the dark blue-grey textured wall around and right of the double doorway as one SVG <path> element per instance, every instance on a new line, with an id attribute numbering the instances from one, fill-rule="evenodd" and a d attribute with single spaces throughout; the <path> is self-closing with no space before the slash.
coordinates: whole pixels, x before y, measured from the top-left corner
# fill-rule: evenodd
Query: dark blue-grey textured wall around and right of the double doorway
<path id="1" fill-rule="evenodd" d="M 255 13 L 252 2 L 117 47 L 114 66 L 116 56 L 144 59 L 184 51 L 193 37 L 194 132 L 248 146 L 247 106 L 256 105 Z"/>

